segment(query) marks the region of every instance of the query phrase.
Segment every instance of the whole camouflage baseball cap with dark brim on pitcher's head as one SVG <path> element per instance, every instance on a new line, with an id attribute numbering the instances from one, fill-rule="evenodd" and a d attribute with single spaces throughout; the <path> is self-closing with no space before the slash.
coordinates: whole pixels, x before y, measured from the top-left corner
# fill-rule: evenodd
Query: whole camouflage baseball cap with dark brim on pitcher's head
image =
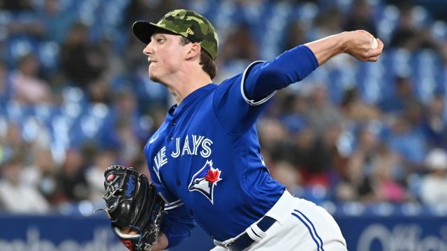
<path id="1" fill-rule="evenodd" d="M 152 22 L 137 21 L 133 23 L 132 31 L 135 36 L 146 45 L 156 28 L 166 29 L 184 36 L 189 40 L 200 43 L 212 59 L 216 59 L 219 38 L 210 21 L 203 15 L 192 10 L 173 10 L 167 13 L 156 24 Z"/>

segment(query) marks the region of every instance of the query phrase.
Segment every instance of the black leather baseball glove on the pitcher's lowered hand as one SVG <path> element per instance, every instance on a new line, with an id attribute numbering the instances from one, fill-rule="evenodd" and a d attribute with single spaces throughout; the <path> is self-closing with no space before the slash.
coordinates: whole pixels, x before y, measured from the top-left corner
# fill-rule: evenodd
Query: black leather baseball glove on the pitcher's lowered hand
<path id="1" fill-rule="evenodd" d="M 156 188 L 132 167 L 112 165 L 105 170 L 104 188 L 108 218 L 112 231 L 131 251 L 147 251 L 156 243 L 160 231 L 165 201 L 156 194 Z M 122 234 L 130 228 L 138 235 Z"/>

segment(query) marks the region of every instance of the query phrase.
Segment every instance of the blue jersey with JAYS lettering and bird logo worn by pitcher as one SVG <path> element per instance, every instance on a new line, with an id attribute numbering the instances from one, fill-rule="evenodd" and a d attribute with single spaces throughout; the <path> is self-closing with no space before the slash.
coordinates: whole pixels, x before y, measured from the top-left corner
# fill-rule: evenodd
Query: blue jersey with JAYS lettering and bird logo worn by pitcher
<path id="1" fill-rule="evenodd" d="M 301 50 L 308 54 L 306 48 Z M 255 62 L 219 85 L 193 91 L 168 110 L 147 142 L 152 182 L 168 201 L 161 228 L 170 246 L 177 236 L 188 234 L 194 222 L 218 241 L 237 236 L 284 192 L 284 185 L 265 167 L 255 127 L 274 90 L 282 88 L 281 83 L 259 84 L 269 67 Z M 255 77 L 246 83 L 249 72 Z"/>

